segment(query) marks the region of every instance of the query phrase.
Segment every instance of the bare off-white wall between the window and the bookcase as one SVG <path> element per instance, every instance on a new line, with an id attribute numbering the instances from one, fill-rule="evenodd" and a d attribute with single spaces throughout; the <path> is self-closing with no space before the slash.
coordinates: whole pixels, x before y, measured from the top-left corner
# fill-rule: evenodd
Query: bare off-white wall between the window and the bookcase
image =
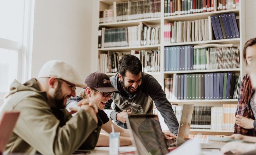
<path id="1" fill-rule="evenodd" d="M 71 64 L 82 79 L 91 72 L 92 2 L 35 0 L 31 77 L 54 59 Z"/>

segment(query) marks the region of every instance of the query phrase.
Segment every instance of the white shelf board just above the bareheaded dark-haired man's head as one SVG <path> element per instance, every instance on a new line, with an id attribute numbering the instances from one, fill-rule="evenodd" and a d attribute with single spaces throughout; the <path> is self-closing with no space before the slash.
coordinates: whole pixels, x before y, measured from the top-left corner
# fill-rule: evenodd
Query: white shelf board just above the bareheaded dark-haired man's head
<path id="1" fill-rule="evenodd" d="M 125 46 L 125 47 L 111 47 L 111 48 L 100 48 L 99 51 L 127 51 L 127 50 L 157 50 L 160 45 L 144 45 L 144 46 Z"/>

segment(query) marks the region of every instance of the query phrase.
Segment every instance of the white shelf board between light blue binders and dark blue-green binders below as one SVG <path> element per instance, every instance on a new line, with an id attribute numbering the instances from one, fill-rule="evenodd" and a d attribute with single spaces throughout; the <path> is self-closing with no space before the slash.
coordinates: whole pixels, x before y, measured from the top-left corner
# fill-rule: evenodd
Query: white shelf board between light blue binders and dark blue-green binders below
<path id="1" fill-rule="evenodd" d="M 164 74 L 181 74 L 181 73 L 209 73 L 209 72 L 240 72 L 240 68 L 235 69 L 217 69 L 217 70 L 190 70 L 190 71 L 165 71 Z"/>

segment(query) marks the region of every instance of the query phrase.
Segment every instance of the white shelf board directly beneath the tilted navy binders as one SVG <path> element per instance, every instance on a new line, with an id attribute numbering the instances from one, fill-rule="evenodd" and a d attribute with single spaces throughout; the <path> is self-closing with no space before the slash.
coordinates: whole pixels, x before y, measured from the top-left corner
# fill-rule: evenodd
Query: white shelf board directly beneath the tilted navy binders
<path id="1" fill-rule="evenodd" d="M 239 44 L 239 42 L 240 42 L 240 38 L 233 38 L 233 39 L 219 39 L 219 40 L 207 40 L 207 41 L 170 43 L 170 44 L 164 44 L 164 46 L 198 45 L 198 44 L 209 44 L 209 43 Z"/>

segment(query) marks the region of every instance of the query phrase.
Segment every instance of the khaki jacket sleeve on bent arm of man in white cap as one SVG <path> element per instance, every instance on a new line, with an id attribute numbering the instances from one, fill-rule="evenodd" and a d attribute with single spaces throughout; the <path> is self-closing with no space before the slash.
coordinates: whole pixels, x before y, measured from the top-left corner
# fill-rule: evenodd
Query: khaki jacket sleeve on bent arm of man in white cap
<path id="1" fill-rule="evenodd" d="M 40 96 L 27 97 L 13 109 L 21 112 L 13 132 L 41 154 L 72 154 L 98 130 L 97 123 L 83 109 L 59 127 L 59 121 Z"/>

